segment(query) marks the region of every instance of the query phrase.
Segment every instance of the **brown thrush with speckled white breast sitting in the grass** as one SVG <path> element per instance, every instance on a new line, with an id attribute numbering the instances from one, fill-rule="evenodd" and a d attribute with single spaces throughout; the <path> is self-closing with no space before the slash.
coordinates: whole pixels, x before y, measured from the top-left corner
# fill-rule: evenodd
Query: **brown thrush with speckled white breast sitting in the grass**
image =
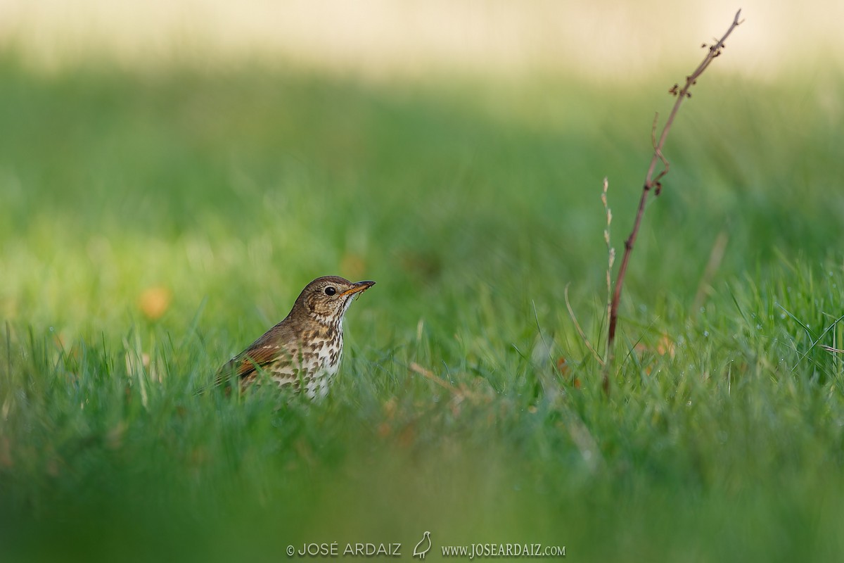
<path id="1" fill-rule="evenodd" d="M 282 322 L 219 369 L 215 385 L 236 379 L 246 387 L 265 374 L 279 387 L 304 389 L 311 400 L 325 398 L 343 355 L 344 314 L 354 296 L 373 285 L 339 276 L 314 279 Z"/>

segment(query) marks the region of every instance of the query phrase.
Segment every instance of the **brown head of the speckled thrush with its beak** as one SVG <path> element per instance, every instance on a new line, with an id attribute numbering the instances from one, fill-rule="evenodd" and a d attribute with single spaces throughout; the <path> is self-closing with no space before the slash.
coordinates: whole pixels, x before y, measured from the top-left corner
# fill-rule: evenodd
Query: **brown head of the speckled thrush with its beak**
<path id="1" fill-rule="evenodd" d="M 338 276 L 317 278 L 296 298 L 291 315 L 303 315 L 322 325 L 338 326 L 354 295 L 370 289 L 374 281 L 350 282 Z"/>

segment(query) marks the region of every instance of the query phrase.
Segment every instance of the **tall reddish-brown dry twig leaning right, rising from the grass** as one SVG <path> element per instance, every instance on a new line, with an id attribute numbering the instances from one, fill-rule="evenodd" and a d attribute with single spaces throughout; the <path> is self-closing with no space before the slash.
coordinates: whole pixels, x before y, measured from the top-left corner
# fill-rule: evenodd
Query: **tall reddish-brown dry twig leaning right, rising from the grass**
<path id="1" fill-rule="evenodd" d="M 619 317 L 619 300 L 621 299 L 621 288 L 625 282 L 625 274 L 627 273 L 627 265 L 630 262 L 630 252 L 633 250 L 633 245 L 636 242 L 636 235 L 639 234 L 639 226 L 641 225 L 641 218 L 642 215 L 645 213 L 645 204 L 647 203 L 647 195 L 651 190 L 654 190 L 655 195 L 659 195 L 659 192 L 662 190 L 662 183 L 661 180 L 663 177 L 668 174 L 668 160 L 665 159 L 663 156 L 663 147 L 665 146 L 665 139 L 668 138 L 668 132 L 671 130 L 671 126 L 674 123 L 674 117 L 677 116 L 677 111 L 679 111 L 680 105 L 683 103 L 683 100 L 686 98 L 691 97 L 691 92 L 689 91 L 692 86 L 697 84 L 697 79 L 700 78 L 701 74 L 709 67 L 712 61 L 714 61 L 717 57 L 721 56 L 721 53 L 724 49 L 724 41 L 727 41 L 728 36 L 733 33 L 733 30 L 738 27 L 739 24 L 742 23 L 743 20 L 739 19 L 739 15 L 741 14 L 741 10 L 736 12 L 735 18 L 733 18 L 733 23 L 730 24 L 729 29 L 727 32 L 718 40 L 715 44 L 708 47 L 708 51 L 706 52 L 706 57 L 704 57 L 703 62 L 695 68 L 695 72 L 691 73 L 689 76 L 686 77 L 685 84 L 682 88 L 680 88 L 679 84 L 674 84 L 674 86 L 668 90 L 669 94 L 676 96 L 677 101 L 674 102 L 674 107 L 671 109 L 671 113 L 668 114 L 668 119 L 663 126 L 663 131 L 660 133 L 659 138 L 657 139 L 657 116 L 654 118 L 653 128 L 652 128 L 652 144 L 653 144 L 653 157 L 651 159 L 651 165 L 647 169 L 647 176 L 645 176 L 645 185 L 642 187 L 641 192 L 641 199 L 639 200 L 639 208 L 636 210 L 636 220 L 633 222 L 633 229 L 630 231 L 630 236 L 627 237 L 625 241 L 625 252 L 624 255 L 621 257 L 621 265 L 619 266 L 619 273 L 615 279 L 615 287 L 613 292 L 613 299 L 610 304 L 610 311 L 609 311 L 609 333 L 607 335 L 607 349 L 608 349 L 608 356 L 605 365 L 604 371 L 604 390 L 609 392 L 609 367 L 612 365 L 612 355 L 613 355 L 613 343 L 615 340 L 615 327 L 618 322 Z M 663 169 L 654 176 L 654 172 L 657 171 L 657 163 L 661 163 L 663 165 Z"/>

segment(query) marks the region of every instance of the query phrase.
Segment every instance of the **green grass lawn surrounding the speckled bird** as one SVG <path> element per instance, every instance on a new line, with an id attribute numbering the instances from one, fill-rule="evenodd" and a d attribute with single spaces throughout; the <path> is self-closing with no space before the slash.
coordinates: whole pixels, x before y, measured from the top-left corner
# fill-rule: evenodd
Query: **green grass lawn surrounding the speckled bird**
<path id="1" fill-rule="evenodd" d="M 599 346 L 601 180 L 620 251 L 662 84 L 8 59 L 0 84 L 3 560 L 407 558 L 425 530 L 571 560 L 844 555 L 844 357 L 821 348 L 844 348 L 840 77 L 701 80 L 609 399 L 564 290 Z M 193 394 L 329 273 L 378 284 L 327 401 Z"/>

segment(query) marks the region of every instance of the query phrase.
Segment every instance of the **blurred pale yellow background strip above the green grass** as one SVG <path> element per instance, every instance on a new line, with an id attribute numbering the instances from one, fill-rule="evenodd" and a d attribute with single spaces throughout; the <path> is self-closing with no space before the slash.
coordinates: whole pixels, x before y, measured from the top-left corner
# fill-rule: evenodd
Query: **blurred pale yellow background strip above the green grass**
<path id="1" fill-rule="evenodd" d="M 131 66 L 268 60 L 371 78 L 629 80 L 696 62 L 738 8 L 746 22 L 722 72 L 840 70 L 844 0 L 0 0 L 0 45 L 41 69 L 94 56 Z"/>

